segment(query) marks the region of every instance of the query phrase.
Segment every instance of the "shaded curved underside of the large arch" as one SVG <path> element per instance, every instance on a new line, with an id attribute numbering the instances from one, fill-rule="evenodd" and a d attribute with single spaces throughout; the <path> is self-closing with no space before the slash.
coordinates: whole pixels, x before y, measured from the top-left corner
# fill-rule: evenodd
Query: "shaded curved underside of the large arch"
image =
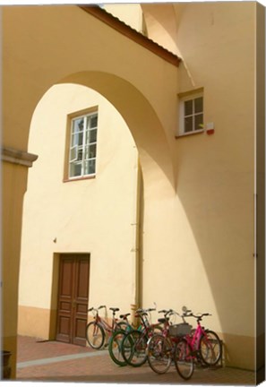
<path id="1" fill-rule="evenodd" d="M 123 116 L 139 150 L 142 172 L 147 178 L 175 187 L 174 169 L 167 137 L 150 102 L 130 82 L 111 73 L 80 72 L 57 83 L 77 83 L 98 91 Z"/>

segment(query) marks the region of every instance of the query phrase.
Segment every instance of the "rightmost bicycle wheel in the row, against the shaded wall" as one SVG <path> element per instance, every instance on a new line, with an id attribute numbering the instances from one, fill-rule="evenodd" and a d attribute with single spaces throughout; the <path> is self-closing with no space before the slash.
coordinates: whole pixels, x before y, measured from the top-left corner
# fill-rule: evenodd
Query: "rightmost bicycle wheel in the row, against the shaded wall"
<path id="1" fill-rule="evenodd" d="M 207 366 L 217 365 L 222 353 L 218 334 L 214 331 L 205 331 L 200 340 L 199 350 L 202 361 Z"/>

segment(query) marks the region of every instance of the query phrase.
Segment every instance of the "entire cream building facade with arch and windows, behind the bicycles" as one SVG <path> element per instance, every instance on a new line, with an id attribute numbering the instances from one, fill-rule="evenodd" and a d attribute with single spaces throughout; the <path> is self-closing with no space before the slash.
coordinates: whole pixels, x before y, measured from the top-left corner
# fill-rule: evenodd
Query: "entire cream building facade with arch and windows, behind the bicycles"
<path id="1" fill-rule="evenodd" d="M 264 9 L 135 10 L 131 28 L 121 8 L 3 9 L 4 346 L 15 354 L 17 305 L 19 332 L 56 338 L 60 279 L 74 266 L 90 272 L 84 305 L 210 312 L 226 364 L 255 370 Z"/>

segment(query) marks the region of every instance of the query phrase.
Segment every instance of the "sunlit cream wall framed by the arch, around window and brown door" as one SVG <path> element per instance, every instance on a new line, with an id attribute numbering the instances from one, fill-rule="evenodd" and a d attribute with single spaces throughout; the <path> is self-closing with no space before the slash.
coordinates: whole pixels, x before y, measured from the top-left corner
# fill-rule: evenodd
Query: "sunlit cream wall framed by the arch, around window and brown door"
<path id="1" fill-rule="evenodd" d="M 95 106 L 96 177 L 64 183 L 67 115 Z M 90 306 L 106 304 L 128 312 L 135 303 L 138 152 L 123 118 L 99 93 L 57 85 L 47 91 L 32 117 L 29 149 L 39 159 L 30 170 L 24 202 L 19 298 L 24 313 L 21 309 L 19 332 L 25 333 L 20 326 L 26 306 L 51 308 L 55 253 L 90 253 Z M 43 321 L 42 314 L 39 319 Z M 28 324 L 28 334 L 35 332 L 34 326 Z M 48 320 L 46 332 L 47 327 Z"/>

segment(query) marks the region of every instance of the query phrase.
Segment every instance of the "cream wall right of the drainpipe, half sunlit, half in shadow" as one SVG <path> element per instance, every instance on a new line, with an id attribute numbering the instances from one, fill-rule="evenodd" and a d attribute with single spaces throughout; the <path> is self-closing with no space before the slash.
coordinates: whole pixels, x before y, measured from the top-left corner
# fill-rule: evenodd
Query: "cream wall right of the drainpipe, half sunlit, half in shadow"
<path id="1" fill-rule="evenodd" d="M 230 364 L 253 368 L 255 4 L 180 7 L 178 92 L 204 88 L 215 133 L 176 139 L 176 196 L 144 180 L 144 304 L 210 312 L 204 324 L 225 333 Z"/>

